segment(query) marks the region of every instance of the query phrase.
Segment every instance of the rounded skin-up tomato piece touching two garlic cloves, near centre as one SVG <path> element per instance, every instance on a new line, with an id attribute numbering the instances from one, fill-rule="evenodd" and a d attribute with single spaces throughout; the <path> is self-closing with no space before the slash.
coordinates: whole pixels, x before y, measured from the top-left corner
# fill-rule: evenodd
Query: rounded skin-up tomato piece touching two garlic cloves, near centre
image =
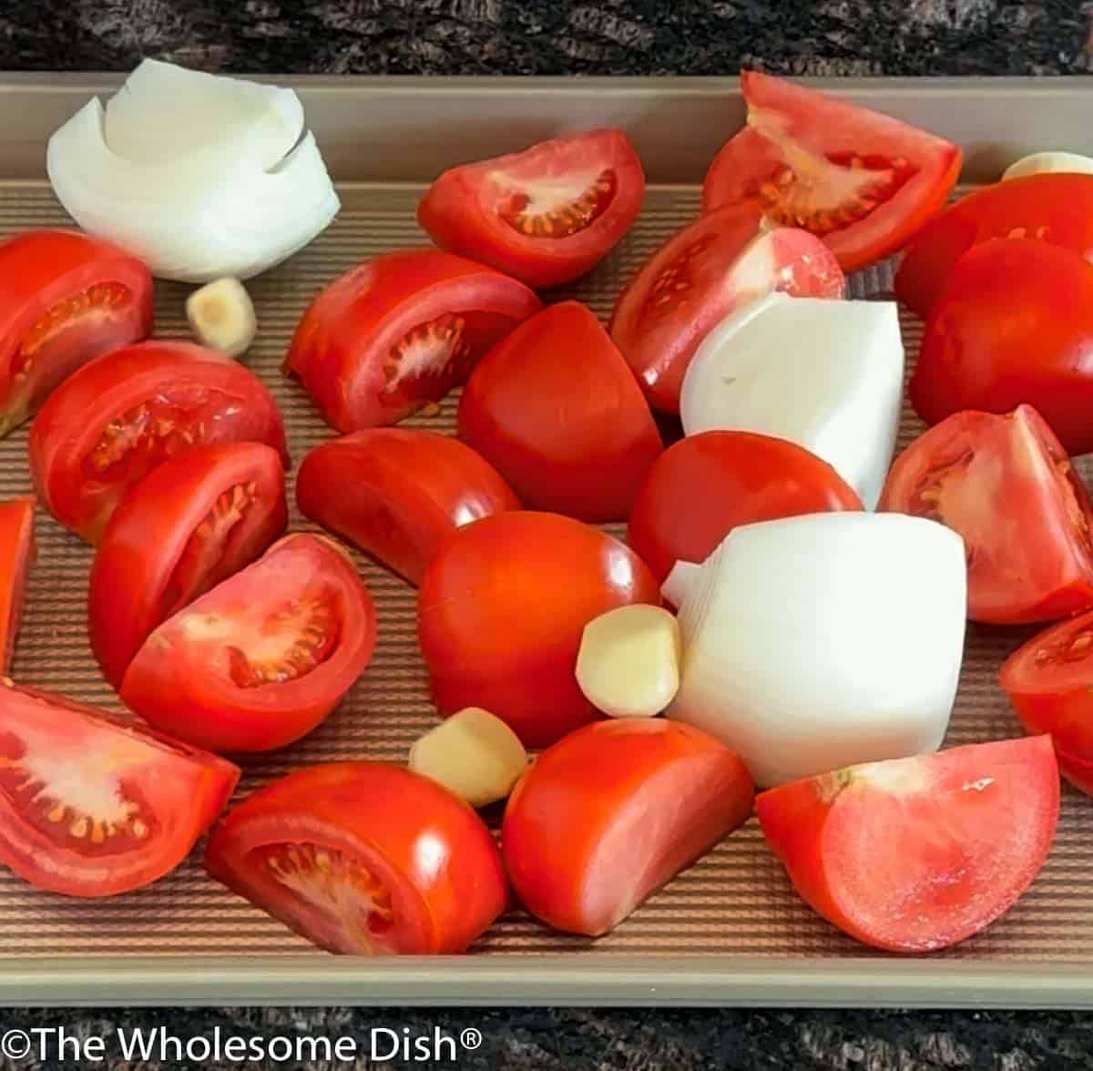
<path id="1" fill-rule="evenodd" d="M 418 591 L 418 637 L 440 715 L 484 707 L 529 748 L 595 720 L 575 676 L 580 634 L 631 602 L 659 604 L 657 581 L 595 528 L 525 511 L 460 528 Z"/>

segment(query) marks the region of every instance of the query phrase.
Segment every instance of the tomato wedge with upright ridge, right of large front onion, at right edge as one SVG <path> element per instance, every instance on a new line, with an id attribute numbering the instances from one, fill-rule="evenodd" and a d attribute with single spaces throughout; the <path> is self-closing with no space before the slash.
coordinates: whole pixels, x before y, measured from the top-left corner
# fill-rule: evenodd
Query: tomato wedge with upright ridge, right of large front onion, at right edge
<path id="1" fill-rule="evenodd" d="M 1051 621 L 1093 605 L 1093 506 L 1031 405 L 956 413 L 896 458 L 880 509 L 960 532 L 973 621 Z"/>

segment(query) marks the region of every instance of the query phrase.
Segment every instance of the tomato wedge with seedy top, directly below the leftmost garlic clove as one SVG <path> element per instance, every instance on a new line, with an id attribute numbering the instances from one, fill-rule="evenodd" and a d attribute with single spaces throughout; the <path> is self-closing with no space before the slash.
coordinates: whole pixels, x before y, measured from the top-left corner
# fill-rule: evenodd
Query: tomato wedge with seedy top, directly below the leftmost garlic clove
<path id="1" fill-rule="evenodd" d="M 287 463 L 284 426 L 261 380 L 189 342 L 143 342 L 84 365 L 31 428 L 31 475 L 49 511 L 97 542 L 126 492 L 195 446 L 268 443 Z"/>

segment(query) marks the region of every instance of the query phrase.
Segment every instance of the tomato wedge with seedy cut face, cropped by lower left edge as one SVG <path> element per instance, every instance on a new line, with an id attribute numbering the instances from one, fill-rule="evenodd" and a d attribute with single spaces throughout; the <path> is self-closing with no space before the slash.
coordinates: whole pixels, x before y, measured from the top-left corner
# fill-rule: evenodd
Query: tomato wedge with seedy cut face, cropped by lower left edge
<path id="1" fill-rule="evenodd" d="M 0 862 L 69 896 L 113 896 L 189 855 L 239 779 L 138 721 L 0 681 Z"/>

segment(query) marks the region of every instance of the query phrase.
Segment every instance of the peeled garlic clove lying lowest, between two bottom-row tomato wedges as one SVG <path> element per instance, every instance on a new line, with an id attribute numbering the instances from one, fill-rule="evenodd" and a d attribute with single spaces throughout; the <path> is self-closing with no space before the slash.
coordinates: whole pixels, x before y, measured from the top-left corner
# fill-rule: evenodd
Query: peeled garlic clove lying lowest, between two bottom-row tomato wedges
<path id="1" fill-rule="evenodd" d="M 409 765 L 471 807 L 485 807 L 508 796 L 527 768 L 528 753 L 501 718 L 466 707 L 413 744 Z"/>

